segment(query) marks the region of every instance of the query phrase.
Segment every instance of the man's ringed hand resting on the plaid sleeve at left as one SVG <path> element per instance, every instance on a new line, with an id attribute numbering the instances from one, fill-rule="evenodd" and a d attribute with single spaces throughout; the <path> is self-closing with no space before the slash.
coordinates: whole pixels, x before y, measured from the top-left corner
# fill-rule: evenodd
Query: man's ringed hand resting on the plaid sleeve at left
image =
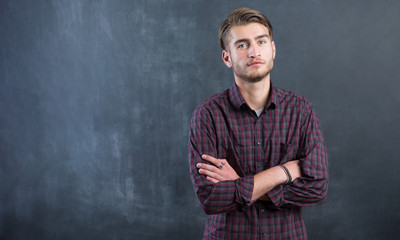
<path id="1" fill-rule="evenodd" d="M 213 164 L 198 163 L 196 165 L 199 168 L 199 173 L 206 176 L 208 181 L 218 183 L 220 181 L 236 180 L 239 178 L 235 169 L 229 165 L 226 159 L 217 159 L 206 154 L 203 154 L 201 157 Z"/>

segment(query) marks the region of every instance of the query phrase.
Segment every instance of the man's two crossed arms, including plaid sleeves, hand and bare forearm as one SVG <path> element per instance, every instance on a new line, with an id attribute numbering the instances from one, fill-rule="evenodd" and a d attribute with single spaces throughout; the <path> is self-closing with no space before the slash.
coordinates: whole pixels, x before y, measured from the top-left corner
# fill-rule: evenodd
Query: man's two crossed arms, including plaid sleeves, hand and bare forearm
<path id="1" fill-rule="evenodd" d="M 189 166 L 194 190 L 205 213 L 246 208 L 255 200 L 270 200 L 277 209 L 322 202 L 328 189 L 326 149 L 318 120 L 310 119 L 303 121 L 301 133 L 306 137 L 300 139 L 299 158 L 284 164 L 293 182 L 286 185 L 283 183 L 287 177 L 279 166 L 250 176 L 242 175 L 236 168 L 235 171 L 226 159 L 218 159 L 213 119 L 203 109 L 195 111 L 190 128 Z M 220 169 L 221 163 L 224 165 Z"/>

